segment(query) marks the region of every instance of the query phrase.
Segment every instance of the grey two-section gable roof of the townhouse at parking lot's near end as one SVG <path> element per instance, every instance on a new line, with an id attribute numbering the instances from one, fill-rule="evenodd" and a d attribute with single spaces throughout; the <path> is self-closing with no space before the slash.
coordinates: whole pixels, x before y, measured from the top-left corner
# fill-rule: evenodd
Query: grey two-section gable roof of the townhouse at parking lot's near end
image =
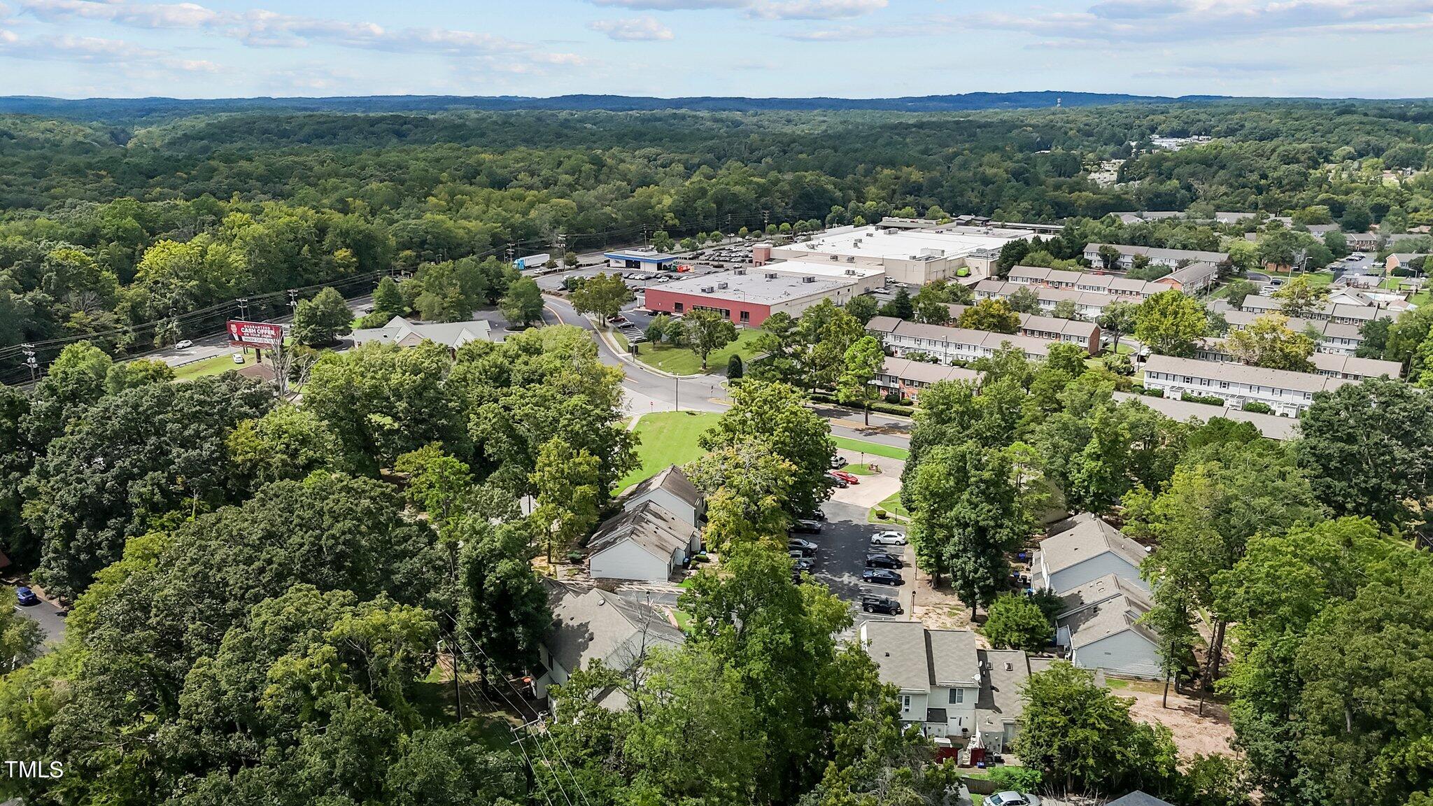
<path id="1" fill-rule="evenodd" d="M 969 630 L 926 630 L 919 621 L 867 621 L 861 644 L 883 683 L 901 691 L 974 686 L 980 678 L 976 635 Z"/>

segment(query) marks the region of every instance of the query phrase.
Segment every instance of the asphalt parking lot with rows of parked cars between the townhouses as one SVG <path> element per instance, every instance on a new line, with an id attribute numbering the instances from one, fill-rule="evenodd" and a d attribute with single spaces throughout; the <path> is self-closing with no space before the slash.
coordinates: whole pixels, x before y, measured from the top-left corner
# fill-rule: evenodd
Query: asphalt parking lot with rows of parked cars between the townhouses
<path id="1" fill-rule="evenodd" d="M 821 511 L 825 512 L 825 528 L 820 534 L 795 535 L 820 546 L 815 558 L 815 578 L 831 588 L 833 594 L 851 602 L 851 607 L 856 608 L 857 622 L 873 618 L 910 620 L 911 598 L 916 592 L 916 552 L 909 545 L 888 546 L 891 554 L 897 554 L 898 551 L 906 561 L 906 568 L 897 571 L 904 582 L 900 587 L 867 585 L 861 581 L 861 572 L 866 571 L 866 554 L 871 545 L 871 535 L 891 529 L 893 526 L 867 523 L 867 509 L 835 501 L 821 505 Z M 906 612 L 898 617 L 861 612 L 861 594 L 896 598 Z"/>

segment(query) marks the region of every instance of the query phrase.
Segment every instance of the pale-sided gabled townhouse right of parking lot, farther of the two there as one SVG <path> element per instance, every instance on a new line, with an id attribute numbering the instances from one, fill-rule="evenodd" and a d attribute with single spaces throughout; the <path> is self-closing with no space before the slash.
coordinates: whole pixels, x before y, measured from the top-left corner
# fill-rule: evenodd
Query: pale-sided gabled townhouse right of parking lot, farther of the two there
<path id="1" fill-rule="evenodd" d="M 1030 587 L 1066 594 L 1079 585 L 1113 574 L 1144 587 L 1139 564 L 1145 546 L 1125 536 L 1103 518 L 1080 512 L 1050 528 L 1030 559 Z"/>

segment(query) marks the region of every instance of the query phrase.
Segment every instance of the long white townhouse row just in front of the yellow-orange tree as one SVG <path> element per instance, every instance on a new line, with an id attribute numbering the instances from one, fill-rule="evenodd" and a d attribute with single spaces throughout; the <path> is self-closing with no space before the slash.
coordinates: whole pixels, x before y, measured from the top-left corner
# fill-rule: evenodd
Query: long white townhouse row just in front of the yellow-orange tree
<path id="1" fill-rule="evenodd" d="M 1165 397 L 1194 394 L 1218 397 L 1241 409 L 1244 403 L 1267 404 L 1275 414 L 1297 417 L 1314 402 L 1315 392 L 1333 392 L 1346 383 L 1341 377 L 1267 370 L 1232 361 L 1199 361 L 1174 356 L 1151 356 L 1145 363 L 1145 389 L 1158 389 Z"/>

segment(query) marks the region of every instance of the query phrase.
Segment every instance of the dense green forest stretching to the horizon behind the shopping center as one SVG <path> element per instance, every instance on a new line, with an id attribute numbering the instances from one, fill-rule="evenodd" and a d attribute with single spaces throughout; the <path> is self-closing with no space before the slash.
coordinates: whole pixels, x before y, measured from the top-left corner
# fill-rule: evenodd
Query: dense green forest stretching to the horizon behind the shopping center
<path id="1" fill-rule="evenodd" d="M 0 379 L 27 377 L 21 343 L 39 346 L 42 366 L 85 337 L 142 351 L 212 331 L 236 297 L 274 313 L 289 288 L 361 293 L 387 272 L 545 250 L 559 234 L 580 250 L 659 229 L 930 211 L 1037 222 L 1314 211 L 1310 222 L 1364 227 L 1391 212 L 1401 227 L 1427 224 L 1433 179 L 1390 184 L 1381 171 L 1427 163 L 1430 119 L 1433 105 L 1391 103 L 6 116 Z M 1192 135 L 1215 139 L 1148 148 Z M 1109 158 L 1128 162 L 1101 186 L 1089 171 Z"/>

